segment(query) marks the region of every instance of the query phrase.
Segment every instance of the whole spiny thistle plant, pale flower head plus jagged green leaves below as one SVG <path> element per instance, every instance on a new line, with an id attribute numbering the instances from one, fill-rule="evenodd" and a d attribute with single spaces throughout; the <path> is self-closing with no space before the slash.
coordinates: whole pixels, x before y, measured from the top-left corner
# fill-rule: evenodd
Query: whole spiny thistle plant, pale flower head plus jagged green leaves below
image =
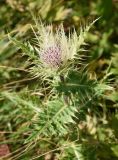
<path id="1" fill-rule="evenodd" d="M 23 106 L 23 110 L 24 106 L 26 107 L 24 119 L 27 109 L 30 107 L 28 110 L 32 110 L 32 114 L 27 115 L 30 117 L 30 124 L 28 123 L 25 129 L 29 134 L 24 141 L 31 148 L 31 144 L 40 145 L 40 139 L 52 141 L 53 137 L 60 152 L 61 141 L 62 146 L 66 146 L 68 140 L 67 150 L 70 147 L 74 148 L 74 152 L 79 152 L 79 146 L 84 143 L 79 142 L 79 139 L 82 139 L 81 127 L 79 128 L 81 122 L 86 121 L 88 111 L 97 106 L 97 101 L 104 91 L 111 89 L 97 79 L 90 78 L 85 67 L 78 69 L 76 65 L 81 63 L 79 53 L 82 45 L 85 45 L 86 33 L 93 23 L 81 28 L 79 34 L 73 30 L 66 36 L 63 25 L 54 30 L 52 25 L 45 26 L 36 22 L 36 26 L 31 26 L 35 38 L 31 38 L 30 42 L 22 43 L 10 37 L 22 49 L 23 54 L 28 56 L 29 71 L 38 78 L 38 82 L 34 82 L 35 94 L 31 94 L 28 89 L 27 96 L 28 91 L 23 90 L 21 93 L 25 92 L 26 98 L 22 99 L 22 94 L 19 94 L 21 98 L 18 98 L 19 96 L 15 97 L 12 93 L 13 103 Z M 3 96 L 11 100 L 10 94 L 3 93 Z M 73 135 L 76 139 L 74 142 Z M 64 152 L 66 154 L 66 151 Z M 73 158 L 75 156 L 71 159 Z"/>

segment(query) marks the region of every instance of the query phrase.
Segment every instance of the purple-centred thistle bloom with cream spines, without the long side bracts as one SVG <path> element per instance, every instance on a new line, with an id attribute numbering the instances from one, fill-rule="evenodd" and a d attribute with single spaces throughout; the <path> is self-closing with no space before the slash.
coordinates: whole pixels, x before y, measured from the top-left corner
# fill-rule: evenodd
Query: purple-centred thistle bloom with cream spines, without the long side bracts
<path id="1" fill-rule="evenodd" d="M 45 27 L 41 25 L 37 49 L 40 60 L 44 67 L 58 69 L 60 66 L 73 59 L 77 54 L 78 36 L 76 32 L 67 37 L 62 25 L 53 32 L 52 25 Z"/>

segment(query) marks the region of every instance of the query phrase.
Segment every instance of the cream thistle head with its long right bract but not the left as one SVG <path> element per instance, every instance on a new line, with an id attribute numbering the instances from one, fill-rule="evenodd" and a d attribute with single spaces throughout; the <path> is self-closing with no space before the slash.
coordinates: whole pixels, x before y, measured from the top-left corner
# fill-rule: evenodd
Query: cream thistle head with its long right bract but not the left
<path id="1" fill-rule="evenodd" d="M 80 28 L 79 35 L 73 30 L 72 33 L 69 32 L 68 36 L 65 34 L 63 25 L 53 31 L 52 25 L 44 26 L 36 23 L 38 31 L 35 32 L 34 29 L 33 31 L 36 38 L 36 50 L 41 62 L 37 65 L 37 73 L 39 73 L 38 68 L 43 70 L 44 72 L 41 71 L 41 73 L 44 74 L 50 74 L 50 71 L 53 73 L 55 70 L 67 71 L 70 62 L 73 62 L 74 59 L 81 59 L 80 47 L 85 44 L 86 33 L 95 21 L 85 26 L 84 29 Z"/>

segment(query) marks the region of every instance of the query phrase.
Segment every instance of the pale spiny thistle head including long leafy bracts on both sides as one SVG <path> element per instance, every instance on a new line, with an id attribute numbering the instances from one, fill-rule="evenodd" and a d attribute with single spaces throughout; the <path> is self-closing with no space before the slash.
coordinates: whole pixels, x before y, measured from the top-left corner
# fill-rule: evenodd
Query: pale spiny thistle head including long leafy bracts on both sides
<path id="1" fill-rule="evenodd" d="M 66 36 L 62 24 L 54 31 L 52 25 L 45 26 L 36 21 L 37 32 L 31 26 L 35 35 L 33 46 L 29 42 L 25 45 L 15 38 L 10 39 L 29 56 L 29 59 L 32 59 L 34 65 L 30 69 L 33 75 L 48 77 L 60 75 L 60 72 L 65 74 L 74 66 L 72 64 L 74 64 L 75 59 L 81 59 L 79 54 L 79 51 L 82 50 L 81 45 L 85 45 L 86 33 L 97 20 L 84 28 L 80 28 L 79 34 L 74 29 L 72 33 L 69 32 L 68 36 Z M 38 57 L 34 48 L 39 55 Z"/>

